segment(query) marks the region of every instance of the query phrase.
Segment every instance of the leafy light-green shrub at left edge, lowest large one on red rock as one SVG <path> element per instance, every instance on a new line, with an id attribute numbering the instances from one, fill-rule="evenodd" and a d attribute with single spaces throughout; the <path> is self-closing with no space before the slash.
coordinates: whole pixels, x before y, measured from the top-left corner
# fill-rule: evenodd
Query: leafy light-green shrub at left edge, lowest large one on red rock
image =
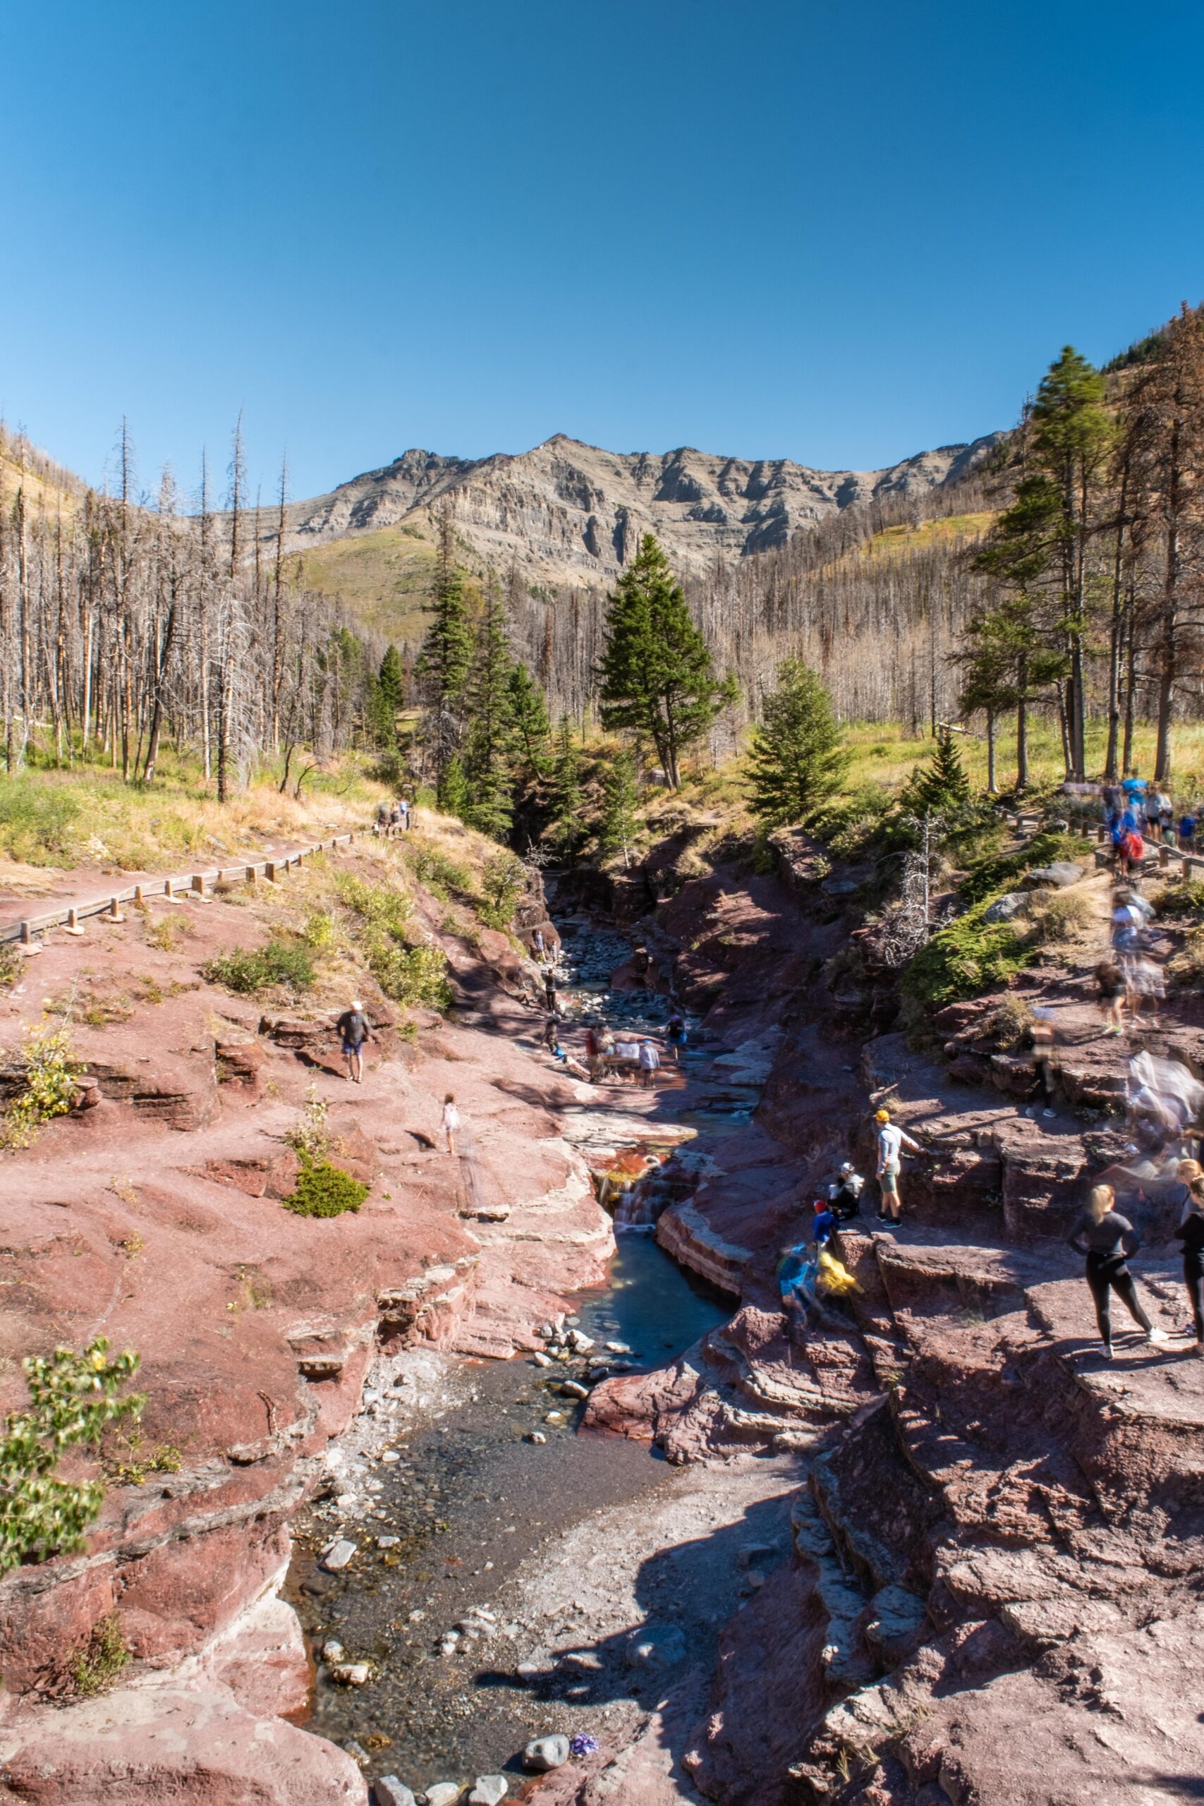
<path id="1" fill-rule="evenodd" d="M 63 1448 L 94 1448 L 110 1423 L 141 1412 L 139 1394 L 117 1398 L 137 1362 L 128 1351 L 108 1360 L 105 1336 L 81 1354 L 54 1349 L 22 1362 L 29 1409 L 11 1412 L 0 1436 L 0 1573 L 83 1548 L 105 1488 L 99 1481 L 60 1481 L 54 1470 Z"/>

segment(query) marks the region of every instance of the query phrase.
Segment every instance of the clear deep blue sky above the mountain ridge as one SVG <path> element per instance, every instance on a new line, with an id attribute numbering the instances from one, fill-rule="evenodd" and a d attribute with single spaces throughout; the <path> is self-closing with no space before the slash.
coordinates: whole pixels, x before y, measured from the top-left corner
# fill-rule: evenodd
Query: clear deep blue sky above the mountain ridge
<path id="1" fill-rule="evenodd" d="M 1204 294 L 1204 7 L 0 0 L 0 405 L 265 493 L 554 432 L 827 468 Z"/>

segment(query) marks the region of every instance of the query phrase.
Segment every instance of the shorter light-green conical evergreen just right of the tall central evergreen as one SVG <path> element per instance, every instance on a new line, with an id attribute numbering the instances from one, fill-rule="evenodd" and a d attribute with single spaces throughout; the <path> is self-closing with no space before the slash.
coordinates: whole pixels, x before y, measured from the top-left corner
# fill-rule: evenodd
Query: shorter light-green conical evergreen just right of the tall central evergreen
<path id="1" fill-rule="evenodd" d="M 801 659 L 778 665 L 778 684 L 753 730 L 749 807 L 769 827 L 807 822 L 839 789 L 848 769 L 832 699 Z"/>

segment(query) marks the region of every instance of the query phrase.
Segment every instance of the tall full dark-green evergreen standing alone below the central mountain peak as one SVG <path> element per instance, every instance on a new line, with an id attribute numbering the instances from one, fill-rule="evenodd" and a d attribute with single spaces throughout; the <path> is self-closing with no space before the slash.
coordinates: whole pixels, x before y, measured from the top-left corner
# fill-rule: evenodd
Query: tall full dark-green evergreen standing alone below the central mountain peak
<path id="1" fill-rule="evenodd" d="M 677 789 L 681 755 L 735 701 L 735 679 L 717 681 L 706 639 L 652 533 L 608 603 L 599 670 L 603 728 L 648 733 Z"/>

